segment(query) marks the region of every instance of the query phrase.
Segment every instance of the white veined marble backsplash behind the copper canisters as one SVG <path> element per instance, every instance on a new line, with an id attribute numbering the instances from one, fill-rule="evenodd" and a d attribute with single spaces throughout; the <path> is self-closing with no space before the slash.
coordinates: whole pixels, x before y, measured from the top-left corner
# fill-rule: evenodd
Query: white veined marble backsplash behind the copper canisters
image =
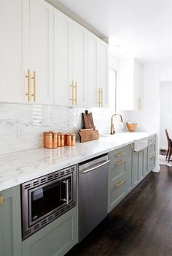
<path id="1" fill-rule="evenodd" d="M 109 133 L 112 110 L 87 110 L 93 113 L 99 133 Z M 85 108 L 0 103 L 0 154 L 42 147 L 44 131 L 77 133 L 82 128 L 82 112 Z M 124 121 L 129 115 L 122 112 Z M 115 124 L 117 131 L 125 129 L 117 118 Z"/>

